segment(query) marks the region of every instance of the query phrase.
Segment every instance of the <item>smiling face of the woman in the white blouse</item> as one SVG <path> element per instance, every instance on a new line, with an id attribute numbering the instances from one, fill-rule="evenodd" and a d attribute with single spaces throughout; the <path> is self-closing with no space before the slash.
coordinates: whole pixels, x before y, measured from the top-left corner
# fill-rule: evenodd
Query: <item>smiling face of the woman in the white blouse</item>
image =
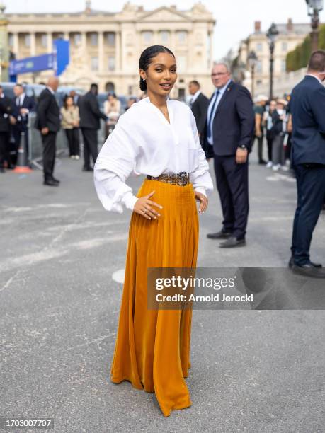
<path id="1" fill-rule="evenodd" d="M 146 79 L 147 89 L 152 93 L 169 95 L 177 79 L 175 57 L 169 52 L 159 52 L 152 57 L 147 71 L 140 69 L 140 76 Z"/>

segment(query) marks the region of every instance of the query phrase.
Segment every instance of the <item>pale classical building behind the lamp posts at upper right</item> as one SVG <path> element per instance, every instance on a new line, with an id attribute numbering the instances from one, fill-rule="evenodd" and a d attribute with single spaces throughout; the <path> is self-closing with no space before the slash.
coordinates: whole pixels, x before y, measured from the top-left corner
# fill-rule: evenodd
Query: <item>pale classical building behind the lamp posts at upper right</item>
<path id="1" fill-rule="evenodd" d="M 278 28 L 278 37 L 275 40 L 274 48 L 274 81 L 281 79 L 285 75 L 287 53 L 294 50 L 297 45 L 301 44 L 304 38 L 310 32 L 310 23 L 295 24 L 289 18 L 286 24 L 276 24 Z M 254 89 L 255 94 L 259 89 L 265 89 L 270 80 L 270 48 L 266 31 L 261 30 L 261 21 L 256 21 L 254 32 L 241 41 L 239 46 L 239 57 L 237 64 L 246 70 L 249 70 L 248 55 L 254 51 L 258 58 L 255 74 Z M 251 80 L 247 80 L 250 82 Z"/>

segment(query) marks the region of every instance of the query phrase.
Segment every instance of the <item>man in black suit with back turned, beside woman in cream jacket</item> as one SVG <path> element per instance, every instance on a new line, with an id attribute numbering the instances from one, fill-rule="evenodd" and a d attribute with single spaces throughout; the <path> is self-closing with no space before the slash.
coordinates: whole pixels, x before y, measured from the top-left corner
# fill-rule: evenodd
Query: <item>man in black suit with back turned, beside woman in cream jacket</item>
<path id="1" fill-rule="evenodd" d="M 90 91 L 84 96 L 80 96 L 78 100 L 80 127 L 84 139 L 83 171 L 93 171 L 93 168 L 90 166 L 90 154 L 93 158 L 93 163 L 95 164 L 98 156 L 97 131 L 101 127 L 99 120 L 107 120 L 106 115 L 99 110 L 97 95 L 97 84 L 91 84 Z"/>

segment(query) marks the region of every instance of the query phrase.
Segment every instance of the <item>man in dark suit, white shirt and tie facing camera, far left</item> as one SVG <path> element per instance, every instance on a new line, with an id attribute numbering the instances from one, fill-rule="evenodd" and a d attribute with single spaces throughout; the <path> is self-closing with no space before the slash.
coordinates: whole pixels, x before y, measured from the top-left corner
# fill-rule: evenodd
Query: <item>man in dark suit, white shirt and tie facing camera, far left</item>
<path id="1" fill-rule="evenodd" d="M 28 115 L 30 112 L 35 111 L 36 104 L 34 98 L 30 98 L 25 94 L 24 88 L 21 84 L 16 84 L 13 87 L 13 93 L 15 96 L 12 100 L 13 105 L 13 117 L 16 119 L 16 123 L 12 125 L 11 130 L 13 133 L 13 139 L 15 141 L 15 161 L 17 160 L 17 152 L 21 143 L 21 133 L 25 132 L 26 143 L 27 143 L 27 154 L 28 154 Z"/>

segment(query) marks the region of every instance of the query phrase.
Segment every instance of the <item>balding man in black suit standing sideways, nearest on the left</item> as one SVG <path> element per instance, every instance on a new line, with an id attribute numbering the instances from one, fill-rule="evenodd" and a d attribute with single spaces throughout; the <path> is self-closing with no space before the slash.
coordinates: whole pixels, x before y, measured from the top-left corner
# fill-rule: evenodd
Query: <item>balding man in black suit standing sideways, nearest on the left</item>
<path id="1" fill-rule="evenodd" d="M 40 97 L 38 98 L 35 128 L 40 129 L 43 144 L 44 185 L 58 186 L 59 180 L 53 176 L 55 167 L 56 138 L 60 128 L 59 105 L 55 99 L 55 91 L 59 86 L 59 79 L 51 76 Z"/>

